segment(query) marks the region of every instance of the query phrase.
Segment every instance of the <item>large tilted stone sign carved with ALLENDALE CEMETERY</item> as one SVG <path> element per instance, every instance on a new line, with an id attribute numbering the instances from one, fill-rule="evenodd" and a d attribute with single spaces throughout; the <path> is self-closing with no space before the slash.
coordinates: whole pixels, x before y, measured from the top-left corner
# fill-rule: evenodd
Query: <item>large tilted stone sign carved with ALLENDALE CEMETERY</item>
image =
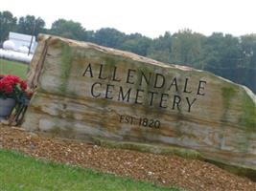
<path id="1" fill-rule="evenodd" d="M 175 145 L 256 169 L 256 98 L 214 74 L 40 35 L 23 127 L 66 138 Z"/>

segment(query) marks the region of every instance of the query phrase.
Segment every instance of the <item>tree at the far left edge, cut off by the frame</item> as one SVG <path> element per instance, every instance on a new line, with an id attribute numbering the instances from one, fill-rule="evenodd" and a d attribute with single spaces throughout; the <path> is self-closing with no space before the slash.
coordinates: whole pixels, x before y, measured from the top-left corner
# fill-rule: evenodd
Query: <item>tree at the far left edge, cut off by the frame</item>
<path id="1" fill-rule="evenodd" d="M 9 32 L 15 31 L 17 18 L 10 11 L 0 11 L 0 43 L 8 38 Z"/>

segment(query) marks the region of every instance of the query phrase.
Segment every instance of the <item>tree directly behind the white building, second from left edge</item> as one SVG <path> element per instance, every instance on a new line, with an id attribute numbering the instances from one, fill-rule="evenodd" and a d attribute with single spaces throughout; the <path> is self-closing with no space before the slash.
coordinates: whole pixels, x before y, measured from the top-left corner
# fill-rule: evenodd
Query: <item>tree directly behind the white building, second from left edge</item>
<path id="1" fill-rule="evenodd" d="M 44 32 L 45 22 L 40 17 L 34 15 L 22 16 L 18 20 L 17 32 L 37 36 L 39 32 Z"/>

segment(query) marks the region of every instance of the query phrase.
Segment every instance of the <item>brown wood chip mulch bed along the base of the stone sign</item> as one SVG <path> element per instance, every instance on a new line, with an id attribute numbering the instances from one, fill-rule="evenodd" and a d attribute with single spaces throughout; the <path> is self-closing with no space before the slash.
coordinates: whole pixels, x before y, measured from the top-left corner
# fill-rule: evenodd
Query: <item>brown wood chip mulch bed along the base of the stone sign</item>
<path id="1" fill-rule="evenodd" d="M 197 159 L 105 148 L 36 135 L 6 125 L 0 125 L 0 132 L 0 148 L 35 158 L 51 159 L 135 180 L 150 180 L 185 190 L 256 191 L 256 182 Z"/>

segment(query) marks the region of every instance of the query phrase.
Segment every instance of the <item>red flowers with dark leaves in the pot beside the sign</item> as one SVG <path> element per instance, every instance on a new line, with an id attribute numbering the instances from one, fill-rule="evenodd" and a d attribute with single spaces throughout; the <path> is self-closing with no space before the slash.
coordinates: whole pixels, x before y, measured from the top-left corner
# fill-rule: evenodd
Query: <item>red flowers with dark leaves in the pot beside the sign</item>
<path id="1" fill-rule="evenodd" d="M 13 98 L 17 103 L 23 103 L 30 98 L 26 81 L 12 74 L 0 74 L 0 98 Z"/>

